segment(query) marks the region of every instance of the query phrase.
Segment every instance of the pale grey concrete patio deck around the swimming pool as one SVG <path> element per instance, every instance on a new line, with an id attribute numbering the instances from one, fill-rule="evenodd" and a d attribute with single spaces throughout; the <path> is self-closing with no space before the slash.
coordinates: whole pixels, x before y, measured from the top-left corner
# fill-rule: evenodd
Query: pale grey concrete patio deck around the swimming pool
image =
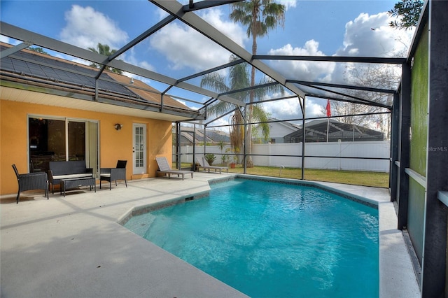
<path id="1" fill-rule="evenodd" d="M 225 176 L 134 180 L 19 204 L 3 196 L 1 297 L 246 297 L 118 224 L 134 207 L 207 192 L 208 180 Z M 321 184 L 379 201 L 380 297 L 419 297 L 388 191 Z"/>

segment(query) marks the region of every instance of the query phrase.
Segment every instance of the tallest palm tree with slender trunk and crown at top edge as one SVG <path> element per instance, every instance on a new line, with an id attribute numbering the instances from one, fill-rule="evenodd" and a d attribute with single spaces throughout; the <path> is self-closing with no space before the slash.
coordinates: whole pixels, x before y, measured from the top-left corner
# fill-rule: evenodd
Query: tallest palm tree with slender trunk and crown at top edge
<path id="1" fill-rule="evenodd" d="M 250 0 L 232 3 L 230 19 L 247 26 L 247 36 L 252 37 L 252 55 L 257 55 L 257 38 L 266 36 L 268 31 L 275 29 L 278 25 L 284 26 L 285 6 L 272 0 Z M 251 87 L 255 86 L 255 67 L 251 69 Z M 250 92 L 249 102 L 253 102 L 255 91 Z M 253 108 L 248 110 L 248 122 L 252 122 Z M 252 139 L 252 125 L 248 125 L 247 139 Z M 246 165 L 253 166 L 252 143 L 248 142 L 248 159 Z"/>

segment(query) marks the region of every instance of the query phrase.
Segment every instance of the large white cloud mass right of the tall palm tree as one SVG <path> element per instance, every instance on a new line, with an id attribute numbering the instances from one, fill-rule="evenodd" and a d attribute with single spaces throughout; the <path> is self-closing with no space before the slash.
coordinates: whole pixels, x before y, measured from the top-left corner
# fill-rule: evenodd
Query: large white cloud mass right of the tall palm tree
<path id="1" fill-rule="evenodd" d="M 393 20 L 388 13 L 367 15 L 361 13 L 354 20 L 346 23 L 344 41 L 335 52 L 336 56 L 357 57 L 403 57 L 407 54 L 414 30 L 397 30 L 389 26 Z M 269 55 L 324 55 L 318 49 L 318 41 L 307 41 L 302 48 L 293 48 L 287 44 L 282 48 L 272 49 Z M 350 83 L 347 81 L 346 67 L 351 64 L 334 62 L 297 62 L 272 61 L 274 69 L 286 78 L 297 80 L 323 81 L 331 83 Z M 269 102 L 264 104 L 266 111 L 272 117 L 279 119 L 297 118 L 300 115 L 300 106 L 297 99 L 288 99 L 285 104 Z M 318 99 L 307 98 L 307 118 L 321 116 L 322 106 L 325 103 Z M 298 114 L 297 114 L 298 113 Z"/>

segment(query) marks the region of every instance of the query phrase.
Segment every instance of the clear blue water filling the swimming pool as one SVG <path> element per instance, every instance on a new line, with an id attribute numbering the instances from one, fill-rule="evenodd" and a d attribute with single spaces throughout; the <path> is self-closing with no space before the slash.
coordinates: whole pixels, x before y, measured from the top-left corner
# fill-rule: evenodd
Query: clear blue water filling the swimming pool
<path id="1" fill-rule="evenodd" d="M 315 187 L 237 179 L 125 227 L 251 297 L 378 297 L 378 211 Z"/>

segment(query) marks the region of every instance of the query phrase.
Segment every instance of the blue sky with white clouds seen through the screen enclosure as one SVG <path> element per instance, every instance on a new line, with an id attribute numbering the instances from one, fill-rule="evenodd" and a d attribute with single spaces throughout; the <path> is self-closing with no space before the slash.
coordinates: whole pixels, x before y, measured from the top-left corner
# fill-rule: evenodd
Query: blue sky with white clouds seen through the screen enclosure
<path id="1" fill-rule="evenodd" d="M 258 55 L 405 57 L 414 32 L 388 26 L 392 19 L 387 11 L 396 1 L 276 0 L 286 6 L 285 24 L 283 28 L 270 31 L 268 36 L 258 38 Z M 251 39 L 246 36 L 246 28 L 229 20 L 229 6 L 197 14 L 251 52 Z M 80 48 L 96 48 L 97 43 L 110 45 L 113 49 L 121 48 L 165 16 L 165 12 L 146 0 L 0 1 L 0 19 L 3 22 Z M 19 43 L 6 36 L 0 36 L 0 41 Z M 60 53 L 50 54 L 80 62 Z M 183 78 L 227 63 L 229 56 L 227 50 L 216 48 L 204 36 L 176 21 L 125 52 L 120 59 L 172 78 Z M 346 65 L 335 63 L 265 63 L 284 76 L 297 80 L 341 83 L 346 71 Z M 155 81 L 144 81 L 158 90 L 167 87 Z M 183 98 L 206 100 L 181 90 L 173 92 Z M 183 102 L 197 108 L 195 104 Z M 311 98 L 307 101 L 307 117 L 323 115 L 325 104 L 323 99 Z M 277 119 L 301 117 L 297 99 L 282 101 L 282 104 L 271 101 L 263 104 L 263 108 Z"/>

